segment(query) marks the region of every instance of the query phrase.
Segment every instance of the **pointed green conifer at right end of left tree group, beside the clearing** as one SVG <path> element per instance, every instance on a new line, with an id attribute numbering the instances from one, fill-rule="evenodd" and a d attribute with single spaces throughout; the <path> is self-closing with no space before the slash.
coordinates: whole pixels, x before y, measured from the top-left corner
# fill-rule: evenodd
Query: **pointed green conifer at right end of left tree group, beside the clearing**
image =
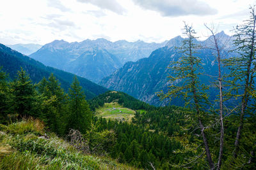
<path id="1" fill-rule="evenodd" d="M 68 128 L 77 129 L 83 134 L 90 127 L 92 112 L 76 76 L 69 89 L 68 97 Z"/>

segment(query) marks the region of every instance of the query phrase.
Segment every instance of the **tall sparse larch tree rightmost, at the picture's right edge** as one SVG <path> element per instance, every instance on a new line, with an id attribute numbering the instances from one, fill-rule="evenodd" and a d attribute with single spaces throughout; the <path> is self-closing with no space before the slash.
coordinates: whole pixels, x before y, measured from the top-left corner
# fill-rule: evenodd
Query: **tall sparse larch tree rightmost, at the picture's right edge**
<path id="1" fill-rule="evenodd" d="M 244 116 L 250 112 L 248 103 L 255 93 L 255 50 L 256 50 L 256 15 L 255 6 L 250 6 L 250 18 L 244 21 L 244 24 L 237 25 L 234 37 L 234 46 L 237 48 L 234 50 L 238 53 L 238 56 L 231 57 L 226 60 L 226 66 L 230 69 L 228 75 L 232 78 L 228 83 L 230 84 L 230 96 L 241 100 L 239 112 L 239 124 L 237 127 L 236 140 L 234 143 L 234 158 L 237 157 L 239 152 L 239 142 L 244 125 Z"/>

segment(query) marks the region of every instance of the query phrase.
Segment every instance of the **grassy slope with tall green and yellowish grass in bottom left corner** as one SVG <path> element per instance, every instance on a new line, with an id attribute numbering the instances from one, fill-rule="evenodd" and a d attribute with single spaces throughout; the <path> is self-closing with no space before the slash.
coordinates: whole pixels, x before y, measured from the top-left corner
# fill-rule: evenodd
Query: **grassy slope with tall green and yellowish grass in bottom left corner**
<path id="1" fill-rule="evenodd" d="M 43 122 L 29 118 L 0 131 L 0 169 L 134 169 L 115 160 L 80 153 L 55 134 L 45 134 Z"/>

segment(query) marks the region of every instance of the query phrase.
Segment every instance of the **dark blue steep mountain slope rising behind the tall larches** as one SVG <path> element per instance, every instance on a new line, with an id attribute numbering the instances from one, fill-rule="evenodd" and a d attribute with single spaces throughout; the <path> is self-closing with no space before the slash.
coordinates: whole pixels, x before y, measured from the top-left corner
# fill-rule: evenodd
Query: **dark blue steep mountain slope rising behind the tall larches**
<path id="1" fill-rule="evenodd" d="M 218 36 L 223 33 L 220 32 Z M 207 43 L 209 44 L 211 39 L 210 37 L 205 41 L 198 41 L 198 44 L 205 46 Z M 168 85 L 170 85 L 168 76 L 172 75 L 172 70 L 168 69 L 168 65 L 171 61 L 177 61 L 181 57 L 181 54 L 174 46 L 182 45 L 182 40 L 183 38 L 177 36 L 168 41 L 163 48 L 152 52 L 148 58 L 140 59 L 137 62 L 127 62 L 122 68 L 111 74 L 111 76 L 103 78 L 99 84 L 111 90 L 126 92 L 149 104 L 163 105 L 164 101 L 159 101 L 156 92 L 161 90 L 166 92 L 168 90 Z M 216 66 L 215 57 L 212 55 L 212 50 L 203 48 L 196 55 L 202 59 L 205 75 L 215 75 L 218 73 L 218 67 Z M 201 80 L 205 84 L 212 84 L 211 76 L 202 76 Z M 212 88 L 210 92 L 211 99 L 214 99 L 215 89 Z M 182 105 L 182 101 L 173 101 L 172 104 Z"/>

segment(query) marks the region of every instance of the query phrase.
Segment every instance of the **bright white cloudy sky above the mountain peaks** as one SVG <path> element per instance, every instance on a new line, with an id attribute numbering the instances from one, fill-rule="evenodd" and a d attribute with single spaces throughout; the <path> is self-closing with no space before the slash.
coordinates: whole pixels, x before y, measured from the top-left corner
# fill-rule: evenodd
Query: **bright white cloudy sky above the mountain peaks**
<path id="1" fill-rule="evenodd" d="M 55 39 L 125 39 L 160 43 L 182 36 L 184 22 L 200 39 L 204 24 L 232 35 L 253 0 L 1 0 L 0 43 L 45 45 Z"/>

